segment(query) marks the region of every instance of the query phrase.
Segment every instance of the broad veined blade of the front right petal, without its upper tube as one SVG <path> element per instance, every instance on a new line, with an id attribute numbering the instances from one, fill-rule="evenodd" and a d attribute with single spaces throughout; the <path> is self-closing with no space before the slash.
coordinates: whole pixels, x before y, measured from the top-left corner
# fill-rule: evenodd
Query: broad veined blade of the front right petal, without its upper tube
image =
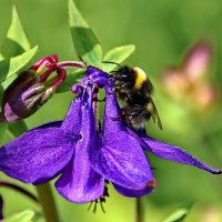
<path id="1" fill-rule="evenodd" d="M 141 190 L 153 179 L 145 154 L 127 133 L 118 137 L 114 144 L 101 144 L 90 152 L 92 168 L 119 185 Z"/>

